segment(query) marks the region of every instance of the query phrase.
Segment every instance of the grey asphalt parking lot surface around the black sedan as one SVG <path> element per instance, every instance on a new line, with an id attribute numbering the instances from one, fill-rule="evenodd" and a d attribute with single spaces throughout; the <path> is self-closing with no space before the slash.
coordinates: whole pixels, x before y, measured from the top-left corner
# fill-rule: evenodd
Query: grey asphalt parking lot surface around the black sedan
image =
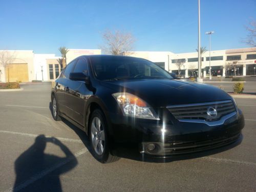
<path id="1" fill-rule="evenodd" d="M 0 92 L 1 191 L 256 191 L 256 99 L 236 99 L 246 125 L 242 143 L 227 151 L 101 164 L 88 151 L 86 134 L 53 120 L 50 83 L 22 88 Z"/>

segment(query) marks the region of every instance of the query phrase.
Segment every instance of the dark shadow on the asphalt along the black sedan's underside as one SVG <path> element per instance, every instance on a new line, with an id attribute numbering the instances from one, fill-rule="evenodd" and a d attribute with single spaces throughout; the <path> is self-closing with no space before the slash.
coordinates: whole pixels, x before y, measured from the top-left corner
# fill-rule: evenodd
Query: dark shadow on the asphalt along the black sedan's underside
<path id="1" fill-rule="evenodd" d="M 50 110 L 52 109 L 51 102 L 49 104 L 49 109 Z M 52 112 L 52 110 L 51 110 L 51 112 Z M 72 124 L 71 122 L 66 120 L 65 118 L 61 117 L 61 120 L 78 135 L 78 137 L 83 142 L 84 146 L 86 146 L 87 149 L 89 150 L 89 152 L 92 154 L 92 151 L 91 151 L 92 148 L 91 148 L 90 141 L 89 141 L 87 134 L 85 132 L 83 132 L 82 130 L 80 130 L 77 126 L 75 126 L 74 124 Z M 131 148 L 131 150 L 129 150 L 129 148 L 130 148 L 129 146 L 127 146 L 125 148 L 125 150 L 118 148 L 118 154 L 116 154 L 116 155 L 120 158 L 131 159 L 131 160 L 135 160 L 135 161 L 143 161 L 143 162 L 150 162 L 150 163 L 153 163 L 153 162 L 154 163 L 168 163 L 168 162 L 195 159 L 195 158 L 206 157 L 206 156 L 218 154 L 218 153 L 230 150 L 231 148 L 238 146 L 242 142 L 242 140 L 243 140 L 243 135 L 241 134 L 240 138 L 237 141 L 235 141 L 229 145 L 226 145 L 226 146 L 215 148 L 215 149 L 212 149 L 209 151 L 195 152 L 195 153 L 191 153 L 188 155 L 179 155 L 179 156 L 176 155 L 176 156 L 172 156 L 172 157 L 168 157 L 168 158 L 149 158 L 147 155 L 143 155 L 143 154 L 140 154 L 139 152 L 135 152 L 132 148 Z M 136 147 L 136 146 L 134 146 L 134 147 Z M 93 156 L 93 154 L 92 154 L 92 156 Z"/>

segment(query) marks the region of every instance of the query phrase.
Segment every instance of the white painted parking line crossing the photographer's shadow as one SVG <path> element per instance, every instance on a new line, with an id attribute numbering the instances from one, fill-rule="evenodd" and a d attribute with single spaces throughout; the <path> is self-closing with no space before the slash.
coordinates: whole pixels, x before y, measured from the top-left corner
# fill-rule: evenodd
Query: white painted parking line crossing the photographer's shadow
<path id="1" fill-rule="evenodd" d="M 75 153 L 74 156 L 77 158 L 77 157 L 85 154 L 86 152 L 88 152 L 88 150 L 86 148 L 83 148 L 82 150 L 80 150 L 77 153 Z M 31 179 L 29 179 L 29 180 L 27 180 L 27 181 L 17 185 L 15 188 L 11 187 L 11 188 L 7 189 L 6 192 L 19 191 L 20 189 L 23 189 L 23 188 L 27 187 L 28 185 L 34 183 L 35 181 L 37 181 L 37 180 L 41 179 L 42 177 L 48 175 L 49 173 L 53 172 L 55 169 L 61 167 L 62 165 L 65 165 L 65 164 L 69 163 L 73 159 L 74 159 L 74 157 L 70 157 L 70 158 L 67 158 L 64 161 L 56 163 L 53 166 L 51 166 L 51 167 L 49 167 L 49 168 L 47 168 L 45 170 L 42 170 L 42 172 L 32 176 Z"/>

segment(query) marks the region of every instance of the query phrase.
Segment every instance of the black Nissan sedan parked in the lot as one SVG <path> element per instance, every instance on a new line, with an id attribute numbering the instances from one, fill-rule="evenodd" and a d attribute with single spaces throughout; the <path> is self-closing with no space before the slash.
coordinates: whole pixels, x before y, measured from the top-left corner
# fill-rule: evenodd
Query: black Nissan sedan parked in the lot
<path id="1" fill-rule="evenodd" d="M 175 157 L 237 141 L 244 117 L 224 91 L 179 80 L 135 57 L 80 56 L 53 83 L 52 113 L 90 138 L 92 154 L 112 162 L 120 154 Z"/>

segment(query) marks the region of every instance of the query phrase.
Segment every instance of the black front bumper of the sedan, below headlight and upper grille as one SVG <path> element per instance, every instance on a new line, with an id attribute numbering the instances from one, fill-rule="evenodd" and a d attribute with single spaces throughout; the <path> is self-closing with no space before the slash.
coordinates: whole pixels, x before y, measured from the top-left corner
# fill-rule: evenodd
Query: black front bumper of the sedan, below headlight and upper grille
<path id="1" fill-rule="evenodd" d="M 166 158 L 209 151 L 239 140 L 244 127 L 241 110 L 216 126 L 180 122 L 164 109 L 160 121 L 116 115 L 112 117 L 112 152 L 124 157 L 137 155 Z"/>

